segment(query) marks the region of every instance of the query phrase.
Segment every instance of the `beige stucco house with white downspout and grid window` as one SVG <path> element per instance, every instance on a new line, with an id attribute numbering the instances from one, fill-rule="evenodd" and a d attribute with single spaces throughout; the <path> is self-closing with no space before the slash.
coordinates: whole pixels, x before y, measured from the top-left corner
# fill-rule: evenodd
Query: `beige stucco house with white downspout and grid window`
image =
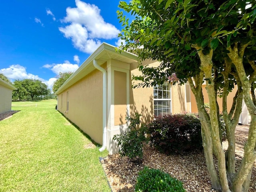
<path id="1" fill-rule="evenodd" d="M 142 64 L 158 66 L 159 62 Z M 136 55 L 116 52 L 103 43 L 55 93 L 58 110 L 110 154 L 118 152 L 112 138 L 128 129 L 128 115 L 138 112 L 147 122 L 154 115 L 197 111 L 188 84 L 132 89 L 132 75 L 140 74 L 137 67 Z"/>

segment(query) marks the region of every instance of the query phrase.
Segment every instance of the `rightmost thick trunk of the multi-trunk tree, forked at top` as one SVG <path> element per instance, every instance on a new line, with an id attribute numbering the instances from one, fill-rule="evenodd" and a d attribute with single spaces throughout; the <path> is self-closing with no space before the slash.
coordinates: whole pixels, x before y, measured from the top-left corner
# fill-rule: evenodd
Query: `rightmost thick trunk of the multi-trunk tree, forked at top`
<path id="1" fill-rule="evenodd" d="M 243 66 L 243 56 L 246 46 L 247 45 L 240 45 L 238 47 L 238 43 L 236 42 L 233 48 L 228 48 L 228 56 L 236 67 L 238 77 L 242 84 L 243 99 L 251 115 L 248 140 L 244 146 L 244 157 L 233 180 L 234 192 L 246 192 L 248 190 L 252 166 L 256 159 L 256 106 L 252 98 L 250 98 L 250 88 L 254 79 L 248 79 Z"/>

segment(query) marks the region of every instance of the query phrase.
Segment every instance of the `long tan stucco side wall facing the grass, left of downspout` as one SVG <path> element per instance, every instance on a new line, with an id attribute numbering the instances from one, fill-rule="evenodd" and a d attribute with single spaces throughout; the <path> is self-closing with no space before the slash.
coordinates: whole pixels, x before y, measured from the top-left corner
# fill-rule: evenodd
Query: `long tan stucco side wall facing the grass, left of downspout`
<path id="1" fill-rule="evenodd" d="M 102 67 L 106 69 L 106 63 Z M 102 144 L 103 127 L 102 83 L 102 72 L 94 70 L 58 94 L 58 110 L 99 144 Z M 69 96 L 68 111 L 67 92 Z"/>

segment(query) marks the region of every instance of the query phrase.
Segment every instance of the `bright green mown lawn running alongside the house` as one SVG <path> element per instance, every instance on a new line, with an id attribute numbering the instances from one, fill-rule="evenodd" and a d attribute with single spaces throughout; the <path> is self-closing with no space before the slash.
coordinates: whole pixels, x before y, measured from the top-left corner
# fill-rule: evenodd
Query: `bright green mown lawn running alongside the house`
<path id="1" fill-rule="evenodd" d="M 13 102 L 0 121 L 0 192 L 109 192 L 99 148 L 55 110 L 56 100 Z"/>

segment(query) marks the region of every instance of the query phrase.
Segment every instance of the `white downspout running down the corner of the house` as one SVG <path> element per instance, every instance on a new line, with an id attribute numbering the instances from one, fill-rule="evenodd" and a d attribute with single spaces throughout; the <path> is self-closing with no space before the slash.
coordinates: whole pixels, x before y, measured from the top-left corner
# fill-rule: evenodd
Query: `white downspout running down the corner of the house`
<path id="1" fill-rule="evenodd" d="M 102 152 L 107 146 L 107 72 L 97 64 L 97 60 L 95 59 L 93 60 L 93 65 L 103 73 L 103 144 L 102 148 L 100 148 L 100 152 Z"/>

